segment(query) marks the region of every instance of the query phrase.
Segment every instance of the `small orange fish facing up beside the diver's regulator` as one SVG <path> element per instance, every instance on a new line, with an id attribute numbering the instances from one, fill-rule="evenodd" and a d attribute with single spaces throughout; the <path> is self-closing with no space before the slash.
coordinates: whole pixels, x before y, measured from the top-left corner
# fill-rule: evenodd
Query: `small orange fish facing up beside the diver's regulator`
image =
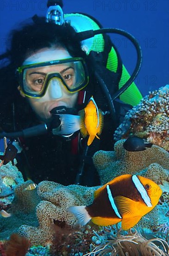
<path id="1" fill-rule="evenodd" d="M 93 142 L 94 138 L 98 138 L 103 129 L 103 114 L 100 109 L 98 109 L 93 96 L 88 101 L 86 108 L 79 111 L 81 116 L 81 135 L 88 138 L 88 146 Z M 98 134 L 98 135 L 97 135 Z"/>

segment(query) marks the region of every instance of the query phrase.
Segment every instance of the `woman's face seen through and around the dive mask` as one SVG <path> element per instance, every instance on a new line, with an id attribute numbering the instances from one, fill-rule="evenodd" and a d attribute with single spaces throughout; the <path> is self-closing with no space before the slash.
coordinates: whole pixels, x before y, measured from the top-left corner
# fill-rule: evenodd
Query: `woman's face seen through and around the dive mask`
<path id="1" fill-rule="evenodd" d="M 56 49 L 51 48 L 44 48 L 35 54 L 31 54 L 30 57 L 28 57 L 23 65 L 29 65 L 29 64 L 36 64 L 44 61 L 55 61 L 55 60 L 62 60 L 71 58 L 69 52 L 60 47 Z M 35 69 L 35 70 L 34 70 Z M 68 67 L 65 66 L 65 64 L 60 64 L 58 66 L 47 66 L 47 67 L 35 67 L 33 70 L 31 69 L 31 73 L 28 74 L 29 77 L 33 76 L 36 90 L 37 88 L 41 86 L 41 83 L 44 79 L 45 74 L 47 73 L 60 73 L 64 75 L 64 78 L 67 80 L 67 83 L 71 83 L 71 76 L 72 76 L 72 70 L 69 69 L 69 72 L 64 73 L 65 70 L 68 69 Z M 69 75 L 70 73 L 70 75 Z M 39 77 L 40 74 L 40 77 Z M 37 77 L 37 79 L 35 79 Z M 30 80 L 32 81 L 32 80 Z M 38 115 L 40 120 L 42 121 L 50 121 L 51 114 L 50 111 L 53 108 L 64 106 L 66 108 L 73 108 L 75 106 L 75 103 L 77 101 L 78 93 L 69 93 L 69 91 L 66 90 L 66 88 L 63 86 L 61 81 L 57 82 L 57 79 L 55 79 L 56 87 L 51 85 L 51 82 L 49 83 L 49 86 L 47 87 L 47 90 L 43 97 L 37 99 L 37 98 L 28 98 L 28 101 L 31 105 L 31 108 L 35 111 L 35 113 Z M 38 84 L 38 87 L 37 87 Z M 54 82 L 53 82 L 54 84 Z M 34 84 L 31 85 L 31 90 L 35 90 Z M 20 87 L 18 87 L 20 94 L 24 96 L 20 90 Z"/>

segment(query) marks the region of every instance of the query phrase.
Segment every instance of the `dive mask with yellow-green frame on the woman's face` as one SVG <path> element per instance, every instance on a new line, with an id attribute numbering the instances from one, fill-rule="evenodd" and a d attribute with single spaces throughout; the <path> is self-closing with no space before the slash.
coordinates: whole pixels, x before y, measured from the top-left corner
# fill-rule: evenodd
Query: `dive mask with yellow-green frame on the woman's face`
<path id="1" fill-rule="evenodd" d="M 43 97 L 51 83 L 75 93 L 89 81 L 86 63 L 80 57 L 25 65 L 17 69 L 17 74 L 22 93 L 30 98 Z"/>

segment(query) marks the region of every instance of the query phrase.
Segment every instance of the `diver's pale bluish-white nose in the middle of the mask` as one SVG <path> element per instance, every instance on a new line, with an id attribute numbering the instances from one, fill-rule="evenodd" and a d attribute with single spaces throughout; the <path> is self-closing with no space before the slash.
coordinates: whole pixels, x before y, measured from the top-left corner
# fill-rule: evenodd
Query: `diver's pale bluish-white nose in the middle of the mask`
<path id="1" fill-rule="evenodd" d="M 52 99 L 59 99 L 63 96 L 63 83 L 58 78 L 52 78 L 48 85 L 48 94 Z"/>

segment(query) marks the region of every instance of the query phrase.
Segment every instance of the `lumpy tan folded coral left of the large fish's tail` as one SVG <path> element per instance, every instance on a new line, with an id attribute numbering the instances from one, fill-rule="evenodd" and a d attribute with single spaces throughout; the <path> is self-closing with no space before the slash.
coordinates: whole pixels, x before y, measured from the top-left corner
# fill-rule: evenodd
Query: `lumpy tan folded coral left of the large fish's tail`
<path id="1" fill-rule="evenodd" d="M 63 186 L 56 182 L 44 181 L 38 184 L 38 195 L 42 201 L 36 207 L 38 227 L 22 225 L 19 234 L 25 236 L 33 245 L 52 243 L 55 225 L 69 225 L 74 228 L 78 222 L 67 209 L 72 205 L 88 205 L 93 202 L 94 190 L 79 185 Z"/>

